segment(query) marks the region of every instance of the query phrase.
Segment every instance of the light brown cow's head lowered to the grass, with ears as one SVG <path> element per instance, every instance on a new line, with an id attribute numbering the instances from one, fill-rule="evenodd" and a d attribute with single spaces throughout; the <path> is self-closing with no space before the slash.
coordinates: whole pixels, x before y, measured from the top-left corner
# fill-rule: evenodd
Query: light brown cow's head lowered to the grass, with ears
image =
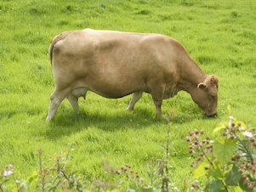
<path id="1" fill-rule="evenodd" d="M 218 77 L 214 75 L 207 76 L 204 82 L 197 85 L 196 91 L 191 96 L 206 116 L 217 115 Z"/>

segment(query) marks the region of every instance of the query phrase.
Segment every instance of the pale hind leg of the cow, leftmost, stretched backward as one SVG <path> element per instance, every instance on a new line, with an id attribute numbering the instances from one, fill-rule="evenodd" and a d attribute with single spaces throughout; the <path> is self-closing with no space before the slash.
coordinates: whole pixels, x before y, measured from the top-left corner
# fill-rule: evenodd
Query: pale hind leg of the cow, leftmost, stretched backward
<path id="1" fill-rule="evenodd" d="M 46 121 L 51 121 L 54 117 L 54 114 L 58 107 L 60 106 L 60 103 L 65 99 L 66 95 L 69 93 L 69 90 L 54 90 L 54 93 L 51 93 L 50 96 L 50 105 L 48 110 L 48 116 L 46 118 Z"/>

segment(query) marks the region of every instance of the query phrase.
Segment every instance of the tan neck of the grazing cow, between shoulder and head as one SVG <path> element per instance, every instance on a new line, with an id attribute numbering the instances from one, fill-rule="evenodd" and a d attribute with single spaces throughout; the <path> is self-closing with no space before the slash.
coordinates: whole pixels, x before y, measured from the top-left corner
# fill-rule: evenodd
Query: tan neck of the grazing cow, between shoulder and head
<path id="1" fill-rule="evenodd" d="M 207 75 L 202 72 L 198 65 L 193 60 L 183 65 L 182 73 L 179 80 L 179 90 L 186 91 L 188 93 L 194 93 L 197 85 L 200 82 L 204 82 Z"/>

